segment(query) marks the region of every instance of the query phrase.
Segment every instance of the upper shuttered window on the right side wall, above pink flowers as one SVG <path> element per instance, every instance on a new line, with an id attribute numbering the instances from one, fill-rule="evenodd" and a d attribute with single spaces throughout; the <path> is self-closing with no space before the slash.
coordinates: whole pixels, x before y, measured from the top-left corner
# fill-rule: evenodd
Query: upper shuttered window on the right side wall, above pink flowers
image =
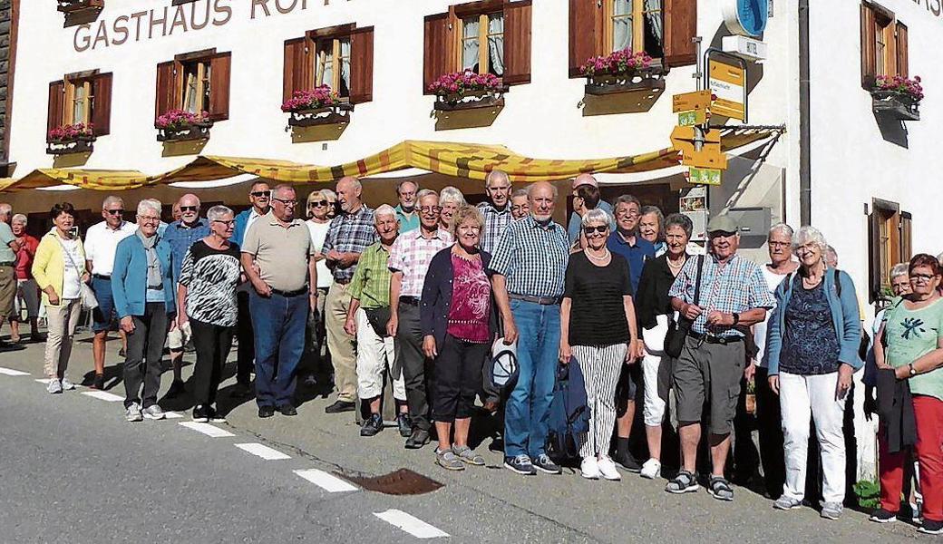
<path id="1" fill-rule="evenodd" d="M 909 73 L 907 25 L 894 13 L 871 2 L 861 5 L 861 84 L 874 88 L 879 75 Z"/>

